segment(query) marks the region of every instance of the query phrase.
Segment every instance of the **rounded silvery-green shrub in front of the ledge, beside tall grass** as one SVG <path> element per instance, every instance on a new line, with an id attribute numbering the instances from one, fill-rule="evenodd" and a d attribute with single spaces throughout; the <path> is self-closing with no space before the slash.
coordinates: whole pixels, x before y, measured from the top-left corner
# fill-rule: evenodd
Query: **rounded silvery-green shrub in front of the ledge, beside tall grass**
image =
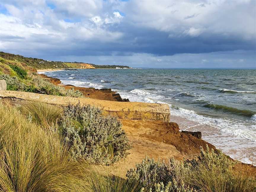
<path id="1" fill-rule="evenodd" d="M 90 105 L 68 105 L 59 126 L 71 146 L 73 160 L 111 164 L 127 155 L 131 148 L 121 122 L 105 117 L 99 108 Z"/>

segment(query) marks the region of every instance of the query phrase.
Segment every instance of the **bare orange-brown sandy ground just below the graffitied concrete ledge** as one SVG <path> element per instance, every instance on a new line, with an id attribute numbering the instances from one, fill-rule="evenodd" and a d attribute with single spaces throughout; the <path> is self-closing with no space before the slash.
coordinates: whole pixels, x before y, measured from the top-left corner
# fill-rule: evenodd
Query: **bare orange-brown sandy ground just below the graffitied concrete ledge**
<path id="1" fill-rule="evenodd" d="M 198 156 L 200 146 L 206 148 L 206 145 L 209 145 L 209 148 L 215 149 L 213 145 L 204 140 L 179 132 L 177 123 L 128 119 L 121 119 L 121 122 L 122 129 L 127 133 L 133 145 L 127 158 L 114 165 L 117 171 L 124 174 L 127 169 L 140 163 L 145 156 L 155 160 L 172 157 L 183 160 Z"/>

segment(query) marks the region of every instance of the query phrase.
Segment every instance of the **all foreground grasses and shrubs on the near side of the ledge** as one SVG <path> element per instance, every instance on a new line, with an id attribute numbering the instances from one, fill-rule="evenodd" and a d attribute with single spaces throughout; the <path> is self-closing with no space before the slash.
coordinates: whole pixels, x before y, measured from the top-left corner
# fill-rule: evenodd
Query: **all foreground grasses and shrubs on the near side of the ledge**
<path id="1" fill-rule="evenodd" d="M 127 177 L 111 174 L 131 145 L 120 121 L 95 107 L 2 100 L 0 114 L 0 191 L 256 190 L 255 173 L 209 149 L 183 162 L 146 157 Z"/>

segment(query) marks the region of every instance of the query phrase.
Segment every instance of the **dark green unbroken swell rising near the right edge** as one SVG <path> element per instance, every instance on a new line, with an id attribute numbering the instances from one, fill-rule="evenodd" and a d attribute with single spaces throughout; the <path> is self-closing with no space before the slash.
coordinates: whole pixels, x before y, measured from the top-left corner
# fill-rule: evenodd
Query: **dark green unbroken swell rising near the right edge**
<path id="1" fill-rule="evenodd" d="M 228 112 L 234 113 L 236 115 L 241 115 L 241 116 L 246 116 L 246 117 L 252 117 L 256 114 L 256 112 L 250 111 L 250 110 L 237 109 L 237 108 L 228 107 L 225 105 L 216 105 L 216 104 L 210 104 L 210 103 L 203 105 L 203 107 L 216 109 L 216 110 L 228 111 Z"/>

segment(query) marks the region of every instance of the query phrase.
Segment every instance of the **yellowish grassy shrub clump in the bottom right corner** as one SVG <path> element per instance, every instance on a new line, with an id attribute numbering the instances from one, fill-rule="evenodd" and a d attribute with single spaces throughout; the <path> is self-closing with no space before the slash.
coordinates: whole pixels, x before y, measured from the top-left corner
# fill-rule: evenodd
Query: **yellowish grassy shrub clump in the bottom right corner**
<path id="1" fill-rule="evenodd" d="M 196 190 L 203 192 L 256 191 L 256 175 L 250 172 L 234 170 L 234 162 L 221 151 L 206 151 L 201 148 L 198 160 L 189 163 L 186 182 Z M 237 166 L 237 164 L 236 164 Z"/>

